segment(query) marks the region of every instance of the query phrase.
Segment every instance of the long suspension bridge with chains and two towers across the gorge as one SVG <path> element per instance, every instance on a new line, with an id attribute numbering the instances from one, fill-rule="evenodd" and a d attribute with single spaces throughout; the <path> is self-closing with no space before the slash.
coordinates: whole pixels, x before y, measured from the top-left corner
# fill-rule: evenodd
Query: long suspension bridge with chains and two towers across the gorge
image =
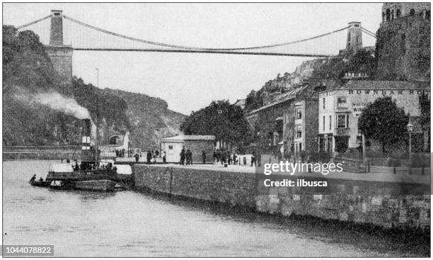
<path id="1" fill-rule="evenodd" d="M 39 35 L 44 45 L 70 47 L 74 51 L 197 52 L 229 55 L 333 57 L 338 55 L 340 50 L 362 47 L 364 35 L 376 38 L 376 35 L 370 30 L 362 28 L 361 23 L 353 22 L 349 23 L 349 26 L 328 33 L 284 43 L 227 48 L 184 46 L 122 35 L 83 23 L 58 10 L 53 10 L 49 16 L 17 28 L 18 30 L 33 30 Z"/>

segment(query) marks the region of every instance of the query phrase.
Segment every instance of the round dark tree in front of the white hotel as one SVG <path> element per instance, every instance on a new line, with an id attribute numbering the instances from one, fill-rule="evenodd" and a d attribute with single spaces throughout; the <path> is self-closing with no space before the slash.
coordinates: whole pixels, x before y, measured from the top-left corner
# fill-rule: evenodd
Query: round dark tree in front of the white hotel
<path id="1" fill-rule="evenodd" d="M 376 101 L 366 106 L 359 117 L 358 128 L 366 138 L 378 140 L 382 144 L 382 152 L 385 146 L 398 142 L 408 125 L 409 115 L 403 108 L 399 108 L 396 101 L 386 96 L 377 98 Z"/>

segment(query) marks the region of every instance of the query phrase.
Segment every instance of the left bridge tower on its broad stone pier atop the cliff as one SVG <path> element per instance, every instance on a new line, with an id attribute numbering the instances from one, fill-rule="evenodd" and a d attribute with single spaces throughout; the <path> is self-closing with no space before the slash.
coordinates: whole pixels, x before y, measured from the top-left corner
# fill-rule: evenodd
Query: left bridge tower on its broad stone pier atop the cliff
<path id="1" fill-rule="evenodd" d="M 50 45 L 45 45 L 48 56 L 63 85 L 72 84 L 72 47 L 63 44 L 62 10 L 51 11 Z"/>

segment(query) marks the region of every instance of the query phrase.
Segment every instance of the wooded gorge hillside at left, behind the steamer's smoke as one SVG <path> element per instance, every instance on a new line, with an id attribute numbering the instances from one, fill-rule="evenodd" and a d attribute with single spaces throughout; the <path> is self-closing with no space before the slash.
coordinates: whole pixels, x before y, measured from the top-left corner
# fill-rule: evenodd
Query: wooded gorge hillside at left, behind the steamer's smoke
<path id="1" fill-rule="evenodd" d="M 184 115 L 160 98 L 97 89 L 74 77 L 60 83 L 44 46 L 32 31 L 3 26 L 3 144 L 78 145 L 82 118 L 96 118 L 102 142 L 131 133 L 132 146 L 156 147 L 179 132 Z"/>

